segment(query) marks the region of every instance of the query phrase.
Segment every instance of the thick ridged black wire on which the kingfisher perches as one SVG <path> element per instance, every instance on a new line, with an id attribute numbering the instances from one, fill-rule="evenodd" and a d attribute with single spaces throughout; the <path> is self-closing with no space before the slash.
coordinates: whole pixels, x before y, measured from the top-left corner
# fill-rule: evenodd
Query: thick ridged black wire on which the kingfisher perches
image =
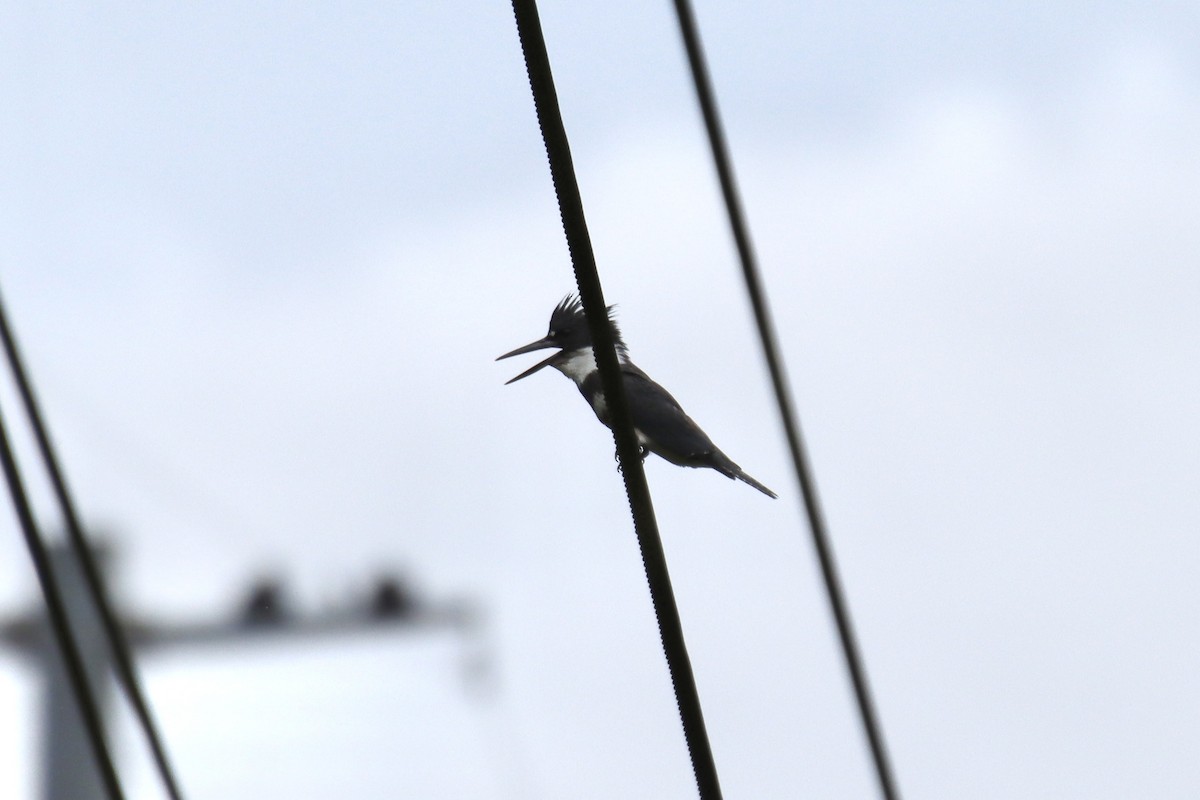
<path id="1" fill-rule="evenodd" d="M 667 572 L 662 540 L 654 518 L 650 491 L 642 469 L 641 449 L 637 445 L 632 421 L 629 416 L 629 407 L 625 402 L 620 366 L 617 362 L 612 331 L 608 327 L 607 306 L 600 287 L 595 255 L 592 252 L 592 240 L 583 215 L 580 187 L 575 179 L 571 149 L 558 107 L 550 56 L 546 53 L 541 22 L 538 18 L 538 5 L 535 0 L 512 0 L 512 11 L 516 16 L 521 50 L 529 74 L 534 107 L 538 112 L 538 125 L 541 128 L 546 155 L 550 160 L 554 193 L 558 196 L 563 230 L 566 234 L 571 264 L 575 267 L 575 279 L 580 288 L 580 300 L 583 302 L 588 327 L 592 331 L 596 366 L 600 369 L 600 380 L 612 422 L 612 434 L 617 443 L 617 456 L 620 459 L 620 471 L 625 480 L 625 492 L 629 495 L 629 506 L 634 515 L 634 528 L 642 552 L 642 564 L 650 589 L 650 600 L 658 618 L 659 633 L 662 637 L 662 651 L 671 673 L 671 682 L 674 686 L 684 739 L 691 756 L 696 788 L 703 800 L 719 800 L 721 787 L 716 777 L 716 764 L 713 760 L 704 716 L 700 706 L 700 694 L 696 691 L 696 679 L 683 638 L 679 609 L 671 589 L 671 576 Z"/>

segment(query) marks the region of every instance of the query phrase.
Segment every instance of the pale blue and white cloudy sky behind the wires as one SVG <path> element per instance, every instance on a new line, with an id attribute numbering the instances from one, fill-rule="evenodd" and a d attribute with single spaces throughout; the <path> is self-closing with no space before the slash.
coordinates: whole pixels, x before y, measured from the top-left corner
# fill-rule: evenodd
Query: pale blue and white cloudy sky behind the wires
<path id="1" fill-rule="evenodd" d="M 781 495 L 647 462 L 726 796 L 871 796 L 670 4 L 541 13 L 634 359 Z M 1195 796 L 1194 8 L 697 18 L 904 794 Z M 611 438 L 493 362 L 574 288 L 506 4 L 10 5 L 0 126 L 0 288 L 125 606 L 395 570 L 485 615 L 148 656 L 190 798 L 692 796 Z M 2 796 L 36 687 L 0 655 Z"/>

